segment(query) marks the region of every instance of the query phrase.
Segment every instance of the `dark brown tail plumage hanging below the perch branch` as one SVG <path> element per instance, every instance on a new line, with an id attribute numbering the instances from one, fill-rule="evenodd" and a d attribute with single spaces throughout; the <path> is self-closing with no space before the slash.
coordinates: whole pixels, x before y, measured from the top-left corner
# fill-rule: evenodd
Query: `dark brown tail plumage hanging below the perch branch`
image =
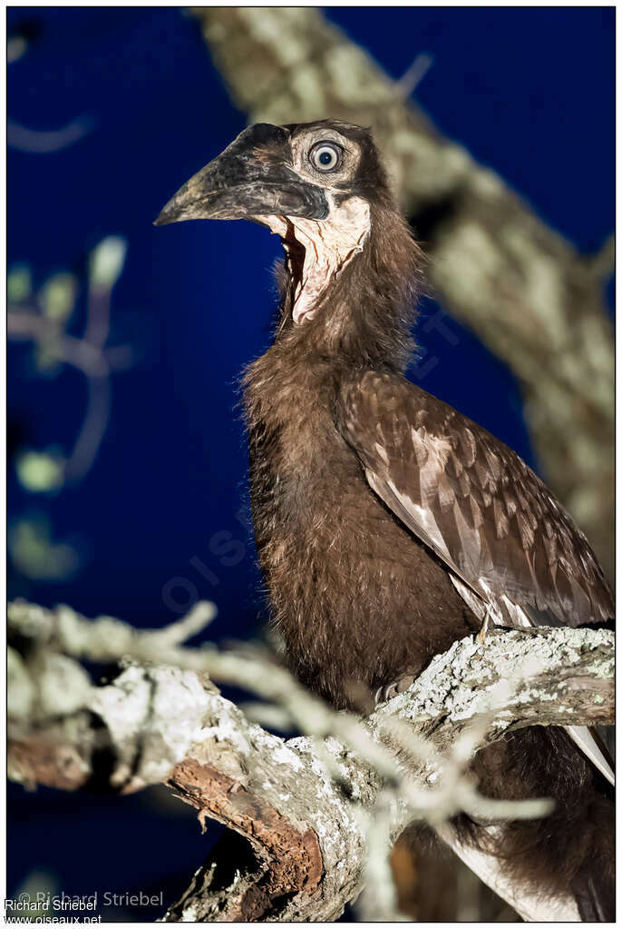
<path id="1" fill-rule="evenodd" d="M 609 922 L 615 896 L 612 789 L 564 729 L 534 726 L 510 733 L 477 753 L 474 770 L 479 789 L 487 796 L 514 800 L 549 796 L 555 806 L 542 819 L 495 824 L 477 823 L 462 814 L 451 823 L 455 841 L 496 858 L 502 880 L 518 904 L 535 900 L 538 912 L 542 907 L 546 912 L 547 905 L 567 908 L 574 903 L 575 920 Z M 507 894 L 494 889 L 512 903 Z M 552 918 L 512 905 L 529 921 Z"/>

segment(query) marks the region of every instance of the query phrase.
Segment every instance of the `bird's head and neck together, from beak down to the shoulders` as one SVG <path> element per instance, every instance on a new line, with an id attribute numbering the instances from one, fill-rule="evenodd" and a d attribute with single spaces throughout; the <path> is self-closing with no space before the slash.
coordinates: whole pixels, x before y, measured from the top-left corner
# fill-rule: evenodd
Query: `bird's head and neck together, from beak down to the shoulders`
<path id="1" fill-rule="evenodd" d="M 422 255 L 368 129 L 336 120 L 249 126 L 156 224 L 182 219 L 251 219 L 281 237 L 285 347 L 301 339 L 323 357 L 408 363 Z"/>

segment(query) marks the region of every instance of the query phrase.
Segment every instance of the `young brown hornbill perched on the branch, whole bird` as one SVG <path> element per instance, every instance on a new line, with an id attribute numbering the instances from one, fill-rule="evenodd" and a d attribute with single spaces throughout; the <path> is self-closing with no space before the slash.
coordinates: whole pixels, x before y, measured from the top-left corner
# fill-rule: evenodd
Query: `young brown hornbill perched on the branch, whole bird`
<path id="1" fill-rule="evenodd" d="M 244 386 L 260 566 L 301 681 L 347 707 L 353 682 L 412 678 L 487 616 L 613 618 L 589 543 L 546 486 L 404 378 L 422 260 L 369 131 L 251 126 L 157 223 L 197 218 L 255 220 L 285 248 L 273 344 Z M 461 816 L 453 828 L 513 881 L 608 921 L 611 769 L 588 729 L 569 732 L 574 743 L 561 728 L 524 729 L 474 762 L 482 792 L 552 796 L 550 817 L 491 829 Z"/>

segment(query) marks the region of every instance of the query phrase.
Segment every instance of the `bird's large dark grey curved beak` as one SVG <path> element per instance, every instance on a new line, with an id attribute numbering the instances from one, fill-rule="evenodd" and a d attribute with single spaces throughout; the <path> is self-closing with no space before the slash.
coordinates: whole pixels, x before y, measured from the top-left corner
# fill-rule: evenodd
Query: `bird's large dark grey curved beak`
<path id="1" fill-rule="evenodd" d="M 305 216 L 325 219 L 324 190 L 293 168 L 290 134 L 277 125 L 252 125 L 218 158 L 186 181 L 156 219 L 156 226 L 183 219 L 253 219 Z"/>

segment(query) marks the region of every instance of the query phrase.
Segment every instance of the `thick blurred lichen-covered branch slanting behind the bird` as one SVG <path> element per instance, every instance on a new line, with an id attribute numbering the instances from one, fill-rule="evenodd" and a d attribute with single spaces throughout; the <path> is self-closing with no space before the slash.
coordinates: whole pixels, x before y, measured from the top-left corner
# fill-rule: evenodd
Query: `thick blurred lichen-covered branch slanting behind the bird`
<path id="1" fill-rule="evenodd" d="M 193 12 L 250 122 L 329 116 L 373 127 L 439 300 L 518 377 L 546 478 L 611 576 L 612 242 L 596 258 L 578 255 L 317 7 Z"/>

